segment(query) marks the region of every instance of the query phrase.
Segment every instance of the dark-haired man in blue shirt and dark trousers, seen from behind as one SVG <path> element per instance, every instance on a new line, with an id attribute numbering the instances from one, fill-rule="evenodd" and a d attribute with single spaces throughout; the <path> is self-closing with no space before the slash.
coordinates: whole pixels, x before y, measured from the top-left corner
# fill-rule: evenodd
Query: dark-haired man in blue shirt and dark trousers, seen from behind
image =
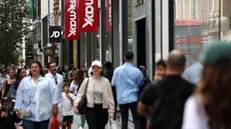
<path id="1" fill-rule="evenodd" d="M 115 69 L 112 78 L 112 86 L 115 86 L 116 88 L 117 102 L 120 106 L 122 117 L 121 129 L 128 129 L 129 109 L 132 112 L 135 129 L 141 128 L 140 118 L 137 114 L 137 103 L 143 74 L 138 68 L 132 65 L 133 60 L 133 52 L 126 52 L 124 56 L 125 63 Z"/>

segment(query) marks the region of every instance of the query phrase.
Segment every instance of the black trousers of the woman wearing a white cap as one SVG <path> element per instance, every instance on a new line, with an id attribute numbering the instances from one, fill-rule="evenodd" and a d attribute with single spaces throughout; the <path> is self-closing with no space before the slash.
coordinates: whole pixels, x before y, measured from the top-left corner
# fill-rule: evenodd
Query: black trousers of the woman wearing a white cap
<path id="1" fill-rule="evenodd" d="M 108 123 L 108 111 L 102 107 L 102 104 L 95 104 L 94 108 L 87 109 L 85 117 L 89 129 L 105 129 Z"/>

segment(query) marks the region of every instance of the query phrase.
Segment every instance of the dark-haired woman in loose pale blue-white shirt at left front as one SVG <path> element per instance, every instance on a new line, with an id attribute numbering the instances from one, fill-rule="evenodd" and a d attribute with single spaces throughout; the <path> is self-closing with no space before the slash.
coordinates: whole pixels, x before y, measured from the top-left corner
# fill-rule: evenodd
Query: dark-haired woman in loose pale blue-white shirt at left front
<path id="1" fill-rule="evenodd" d="M 58 113 L 60 92 L 44 77 L 40 62 L 33 62 L 30 71 L 19 84 L 14 109 L 23 120 L 23 129 L 48 129 L 49 119 Z"/>

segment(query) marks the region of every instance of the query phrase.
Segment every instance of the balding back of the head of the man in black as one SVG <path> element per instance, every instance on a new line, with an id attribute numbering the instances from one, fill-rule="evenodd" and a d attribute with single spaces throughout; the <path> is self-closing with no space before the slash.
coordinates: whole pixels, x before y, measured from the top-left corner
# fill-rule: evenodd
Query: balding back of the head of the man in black
<path id="1" fill-rule="evenodd" d="M 169 68 L 174 70 L 183 70 L 185 68 L 186 58 L 183 52 L 173 51 L 168 57 Z"/>

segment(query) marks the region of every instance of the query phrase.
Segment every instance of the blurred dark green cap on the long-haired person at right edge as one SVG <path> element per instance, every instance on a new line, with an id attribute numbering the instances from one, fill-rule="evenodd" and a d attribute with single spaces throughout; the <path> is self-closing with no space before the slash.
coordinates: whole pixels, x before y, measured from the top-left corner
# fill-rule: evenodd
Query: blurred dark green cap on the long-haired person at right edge
<path id="1" fill-rule="evenodd" d="M 215 67 L 216 62 L 222 58 L 231 60 L 231 44 L 224 41 L 216 41 L 206 48 L 203 62 Z"/>

